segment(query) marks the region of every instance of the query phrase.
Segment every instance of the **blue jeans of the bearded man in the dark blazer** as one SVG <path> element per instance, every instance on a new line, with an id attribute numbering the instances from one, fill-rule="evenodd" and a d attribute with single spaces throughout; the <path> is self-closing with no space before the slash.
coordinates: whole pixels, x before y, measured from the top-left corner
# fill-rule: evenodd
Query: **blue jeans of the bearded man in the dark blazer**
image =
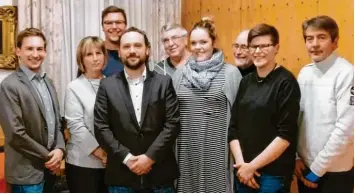
<path id="1" fill-rule="evenodd" d="M 108 191 L 110 193 L 175 193 L 175 189 L 172 186 L 159 186 L 141 190 L 122 186 L 109 186 Z"/>

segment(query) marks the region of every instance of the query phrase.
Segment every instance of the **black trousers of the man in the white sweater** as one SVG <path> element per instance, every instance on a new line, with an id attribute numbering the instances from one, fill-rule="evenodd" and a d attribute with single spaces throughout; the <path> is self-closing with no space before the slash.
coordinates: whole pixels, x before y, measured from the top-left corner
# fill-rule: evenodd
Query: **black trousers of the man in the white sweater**
<path id="1" fill-rule="evenodd" d="M 354 190 L 354 168 L 346 172 L 327 172 L 318 181 L 315 189 L 298 180 L 299 193 L 352 193 Z"/>

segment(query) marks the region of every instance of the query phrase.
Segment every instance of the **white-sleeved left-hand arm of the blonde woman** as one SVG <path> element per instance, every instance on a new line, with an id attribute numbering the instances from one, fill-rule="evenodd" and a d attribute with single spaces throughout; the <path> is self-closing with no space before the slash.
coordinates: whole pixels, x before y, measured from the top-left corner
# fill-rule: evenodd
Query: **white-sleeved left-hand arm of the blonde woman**
<path id="1" fill-rule="evenodd" d="M 65 96 L 65 119 L 67 120 L 72 141 L 89 156 L 99 147 L 99 144 L 85 124 L 84 107 L 80 98 L 85 98 L 85 96 L 78 96 L 73 88 L 69 86 Z"/>

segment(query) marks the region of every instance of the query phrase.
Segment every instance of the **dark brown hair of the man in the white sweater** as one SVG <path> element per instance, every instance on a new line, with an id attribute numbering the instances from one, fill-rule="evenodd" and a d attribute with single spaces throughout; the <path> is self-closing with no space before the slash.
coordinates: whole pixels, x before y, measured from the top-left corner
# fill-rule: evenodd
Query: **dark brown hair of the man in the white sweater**
<path id="1" fill-rule="evenodd" d="M 329 32 L 330 37 L 332 39 L 332 41 L 334 42 L 334 40 L 336 38 L 339 37 L 339 27 L 338 24 L 336 23 L 336 21 L 326 15 L 322 15 L 322 16 L 316 16 L 313 17 L 311 19 L 305 20 L 302 23 L 302 30 L 303 30 L 303 38 L 304 40 L 306 40 L 306 30 L 309 27 L 313 27 L 316 29 L 322 29 L 325 30 L 327 32 Z"/>

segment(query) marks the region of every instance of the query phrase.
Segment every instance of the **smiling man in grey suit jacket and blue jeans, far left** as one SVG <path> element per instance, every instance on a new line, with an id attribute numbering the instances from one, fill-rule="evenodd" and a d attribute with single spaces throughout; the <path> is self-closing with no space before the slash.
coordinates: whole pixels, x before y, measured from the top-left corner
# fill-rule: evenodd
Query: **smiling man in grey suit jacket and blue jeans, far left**
<path id="1" fill-rule="evenodd" d="M 19 68 L 0 86 L 0 124 L 5 132 L 5 178 L 12 192 L 49 192 L 64 154 L 57 94 L 41 65 L 46 38 L 36 28 L 17 36 Z"/>

